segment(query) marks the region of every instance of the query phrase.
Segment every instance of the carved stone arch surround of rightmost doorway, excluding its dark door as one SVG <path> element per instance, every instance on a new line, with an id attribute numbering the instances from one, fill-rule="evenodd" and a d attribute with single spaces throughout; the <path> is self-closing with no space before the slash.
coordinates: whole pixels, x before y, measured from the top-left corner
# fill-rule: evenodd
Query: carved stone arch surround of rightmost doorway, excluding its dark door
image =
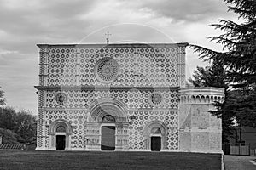
<path id="1" fill-rule="evenodd" d="M 152 121 L 148 122 L 146 127 L 144 127 L 144 141 L 145 149 L 150 150 L 151 148 L 151 138 L 154 136 L 159 136 L 161 138 L 161 150 L 166 149 L 166 134 L 167 127 L 164 122 Z"/>

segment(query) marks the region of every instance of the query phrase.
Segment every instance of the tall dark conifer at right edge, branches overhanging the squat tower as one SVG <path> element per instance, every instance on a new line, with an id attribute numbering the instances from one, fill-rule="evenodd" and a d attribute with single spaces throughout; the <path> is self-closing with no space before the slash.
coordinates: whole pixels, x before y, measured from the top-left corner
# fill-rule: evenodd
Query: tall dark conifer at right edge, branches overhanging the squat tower
<path id="1" fill-rule="evenodd" d="M 219 20 L 218 24 L 211 25 L 224 31 L 218 37 L 209 37 L 211 41 L 222 44 L 224 52 L 197 45 L 190 47 L 200 54 L 201 59 L 221 63 L 232 83 L 232 89 L 225 92 L 224 103 L 216 103 L 218 111 L 211 111 L 222 118 L 225 131 L 226 128 L 229 130 L 234 119 L 240 126 L 256 124 L 256 1 L 224 2 L 231 5 L 229 11 L 238 14 L 239 19 L 243 20 L 241 24 Z"/>

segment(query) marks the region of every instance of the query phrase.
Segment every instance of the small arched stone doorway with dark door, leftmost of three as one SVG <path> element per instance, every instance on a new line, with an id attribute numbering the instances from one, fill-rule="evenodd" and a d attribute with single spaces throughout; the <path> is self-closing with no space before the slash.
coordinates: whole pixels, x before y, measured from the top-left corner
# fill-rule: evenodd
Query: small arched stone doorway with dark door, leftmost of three
<path id="1" fill-rule="evenodd" d="M 69 122 L 59 119 L 49 126 L 49 149 L 69 150 L 72 127 Z"/>

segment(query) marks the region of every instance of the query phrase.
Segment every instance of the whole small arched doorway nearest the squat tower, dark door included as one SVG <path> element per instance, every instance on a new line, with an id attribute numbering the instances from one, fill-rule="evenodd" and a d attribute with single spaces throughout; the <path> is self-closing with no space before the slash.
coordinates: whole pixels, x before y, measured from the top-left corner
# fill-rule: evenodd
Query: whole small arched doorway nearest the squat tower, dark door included
<path id="1" fill-rule="evenodd" d="M 166 149 L 167 127 L 163 122 L 148 122 L 144 128 L 145 149 L 160 151 Z"/>

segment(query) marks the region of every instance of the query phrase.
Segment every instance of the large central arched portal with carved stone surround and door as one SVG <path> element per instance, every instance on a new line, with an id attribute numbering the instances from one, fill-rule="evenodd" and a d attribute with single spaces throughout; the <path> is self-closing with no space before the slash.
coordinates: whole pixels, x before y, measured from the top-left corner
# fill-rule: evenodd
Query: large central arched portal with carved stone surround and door
<path id="1" fill-rule="evenodd" d="M 87 128 L 92 133 L 85 136 L 87 150 L 129 149 L 127 105 L 118 99 L 100 98 L 90 105 L 89 112 Z"/>

